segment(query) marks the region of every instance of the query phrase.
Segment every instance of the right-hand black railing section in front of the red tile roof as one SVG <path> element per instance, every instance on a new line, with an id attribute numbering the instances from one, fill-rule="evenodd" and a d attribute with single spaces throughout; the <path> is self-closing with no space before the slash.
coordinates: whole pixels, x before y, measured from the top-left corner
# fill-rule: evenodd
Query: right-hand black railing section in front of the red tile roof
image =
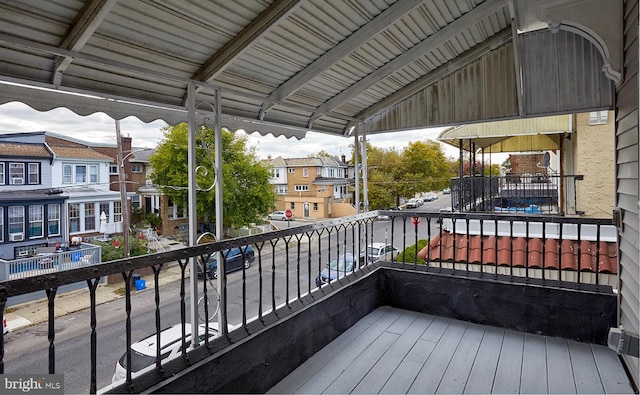
<path id="1" fill-rule="evenodd" d="M 402 265 L 426 270 L 617 286 L 617 229 L 611 219 L 493 213 L 382 211 L 400 227 Z M 397 234 L 392 230 L 392 235 Z M 424 247 L 418 247 L 423 240 Z M 409 248 L 409 251 L 407 251 Z M 408 252 L 408 253 L 407 253 Z"/>

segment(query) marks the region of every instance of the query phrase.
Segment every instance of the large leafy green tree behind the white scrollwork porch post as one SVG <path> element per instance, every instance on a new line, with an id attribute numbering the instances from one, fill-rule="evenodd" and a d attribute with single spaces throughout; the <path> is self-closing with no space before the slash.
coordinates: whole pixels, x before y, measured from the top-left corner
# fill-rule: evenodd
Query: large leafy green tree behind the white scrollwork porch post
<path id="1" fill-rule="evenodd" d="M 187 207 L 187 124 L 167 126 L 164 138 L 149 158 L 153 167 L 152 181 L 173 202 Z M 201 128 L 196 138 L 196 173 L 198 184 L 198 217 L 210 222 L 215 219 L 214 130 Z M 276 195 L 269 179 L 271 169 L 263 165 L 254 147 L 247 146 L 245 137 L 222 131 L 222 188 L 225 226 L 245 226 L 258 222 L 275 207 Z"/>

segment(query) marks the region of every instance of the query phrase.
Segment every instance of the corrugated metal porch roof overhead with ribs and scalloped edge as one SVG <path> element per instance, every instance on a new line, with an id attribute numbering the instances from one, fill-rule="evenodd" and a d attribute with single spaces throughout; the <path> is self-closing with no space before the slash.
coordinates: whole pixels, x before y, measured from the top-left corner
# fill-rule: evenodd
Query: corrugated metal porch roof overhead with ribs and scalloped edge
<path id="1" fill-rule="evenodd" d="M 105 112 L 115 119 L 134 115 L 175 124 L 186 121 L 187 87 L 193 83 L 200 120 L 212 118 L 218 89 L 222 124 L 229 129 L 297 138 L 309 130 L 344 135 L 356 124 L 376 133 L 610 108 L 613 85 L 601 70 L 618 64 L 594 56 L 592 44 L 576 40 L 575 33 L 551 39 L 561 43 L 560 53 L 586 48 L 570 52 L 569 66 L 578 66 L 580 78 L 560 90 L 573 93 L 585 81 L 593 90 L 551 105 L 536 101 L 546 91 L 522 94 L 516 69 L 522 67 L 529 83 L 524 88 L 538 86 L 526 78 L 527 60 L 540 58 L 550 33 L 517 45 L 512 20 L 519 9 L 527 24 L 548 20 L 551 9 L 537 14 L 554 2 L 540 4 L 0 0 L 0 82 L 18 84 L 2 86 L 0 104 L 21 101 L 41 111 L 64 106 L 81 115 Z M 558 72 L 540 70 L 531 74 L 549 79 Z M 536 107 L 539 102 L 547 107 Z"/>

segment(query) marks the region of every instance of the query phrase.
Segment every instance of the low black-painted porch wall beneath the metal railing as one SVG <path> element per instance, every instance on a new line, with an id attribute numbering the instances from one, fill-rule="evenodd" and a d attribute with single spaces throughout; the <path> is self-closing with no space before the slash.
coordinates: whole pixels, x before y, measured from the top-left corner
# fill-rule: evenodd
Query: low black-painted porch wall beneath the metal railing
<path id="1" fill-rule="evenodd" d="M 607 287 L 600 287 L 608 289 L 605 293 L 569 290 L 413 271 L 390 263 L 349 277 L 352 281 L 336 286 L 334 293 L 325 287 L 265 317 L 264 324 L 216 339 L 210 356 L 204 347 L 196 350 L 191 367 L 183 359 L 164 365 L 167 377 L 175 376 L 151 392 L 265 392 L 381 305 L 599 344 L 605 344 L 615 324 L 616 298 Z M 146 376 L 140 379 L 158 377 L 156 372 Z M 124 386 L 120 390 L 126 391 Z"/>

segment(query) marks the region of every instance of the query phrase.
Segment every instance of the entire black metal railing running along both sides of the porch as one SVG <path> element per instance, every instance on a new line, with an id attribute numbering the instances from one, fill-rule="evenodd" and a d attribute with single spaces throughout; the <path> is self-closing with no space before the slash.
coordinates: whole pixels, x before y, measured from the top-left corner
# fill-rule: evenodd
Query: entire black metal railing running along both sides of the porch
<path id="1" fill-rule="evenodd" d="M 379 214 L 388 215 L 390 220 L 377 221 Z M 583 282 L 600 285 L 603 284 L 604 274 L 617 272 L 617 267 L 612 268 L 608 263 L 609 266 L 605 268 L 601 264 L 607 254 L 607 243 L 615 244 L 615 232 L 611 220 L 480 213 L 369 212 L 91 267 L 0 282 L 0 309 L 4 311 L 8 297 L 46 291 L 49 322 L 48 371 L 56 373 L 54 311 L 57 291 L 65 284 L 86 281 L 90 298 L 90 322 L 87 328 L 90 364 L 87 380 L 89 391 L 95 393 L 98 387 L 104 385 L 103 379 L 101 383 L 98 382 L 97 372 L 99 356 L 96 345 L 100 334 L 96 325 L 97 285 L 100 278 L 120 273 L 124 280 L 125 299 L 123 331 L 126 344 L 123 348 L 126 350 L 128 361 L 123 385 L 130 392 L 137 392 L 148 388 L 148 383 L 142 387 L 136 386 L 136 375 L 130 368 L 131 344 L 137 340 L 134 339 L 132 329 L 135 302 L 131 280 L 134 274 L 142 269 L 151 268 L 153 271 L 153 326 L 157 340 L 156 355 L 160 355 L 160 332 L 167 326 L 164 322 L 166 320 L 162 319 L 162 309 L 165 308 L 161 293 L 162 277 L 168 267 L 179 268 L 178 304 L 179 323 L 182 327 L 182 358 L 185 363 L 193 364 L 196 361 L 190 359 L 192 353 L 185 352 L 190 347 L 187 324 L 190 323 L 188 307 L 191 303 L 191 258 L 198 262 L 208 262 L 209 258 L 216 254 L 218 259 L 226 263 L 227 259 L 231 258 L 224 251 L 247 245 L 252 246 L 255 254 L 254 260 L 249 262 L 250 265 L 243 264 L 239 267 L 240 275 L 227 274 L 221 270 L 220 278 L 213 281 L 206 275 L 206 268 L 203 267 L 200 271 L 202 276 L 197 282 L 197 299 L 193 302 L 198 303 L 199 314 L 202 312 L 200 320 L 206 333 L 213 325 L 214 316 L 219 315 L 219 322 L 225 323 L 218 328 L 219 339 L 212 340 L 208 336 L 202 339 L 203 346 L 206 346 L 209 353 L 214 353 L 235 341 L 234 339 L 248 336 L 276 322 L 280 319 L 278 311 L 299 303 L 301 298 L 323 298 L 335 289 L 349 284 L 353 278 L 358 278 L 359 274 L 350 276 L 350 273 L 366 275 L 375 270 L 376 265 L 368 264 L 368 249 L 365 248 L 373 242 L 395 246 L 399 254 L 394 255 L 392 260 L 396 261 L 394 265 L 403 269 L 438 270 L 454 275 L 470 272 L 488 276 L 506 275 L 511 278 L 571 283 L 571 286 Z M 425 246 L 419 246 L 419 242 L 425 240 Z M 552 247 L 554 240 L 555 247 Z M 571 241 L 572 244 L 565 240 Z M 538 248 L 539 246 L 541 247 Z M 586 262 L 587 255 L 583 252 L 586 253 L 586 249 L 590 248 L 594 251 L 589 252 L 589 262 Z M 495 253 L 493 259 L 490 254 L 492 249 Z M 558 259 L 557 265 L 553 265 L 550 260 L 553 256 L 551 249 Z M 572 249 L 577 249 L 577 254 Z M 577 257 L 575 265 L 568 263 L 570 250 L 572 256 Z M 242 248 L 241 251 L 242 262 L 245 262 L 245 254 L 248 252 Z M 364 256 L 361 256 L 360 251 L 364 252 Z M 615 245 L 613 251 L 617 251 Z M 540 262 L 534 262 L 538 259 L 535 257 L 541 257 Z M 593 259 L 596 262 L 595 266 L 591 262 Z M 335 261 L 335 265 L 331 264 L 332 261 Z M 583 273 L 595 275 L 595 280 L 586 281 Z M 218 298 L 220 305 L 215 306 Z M 0 320 L 2 318 L 0 314 Z M 4 337 L 0 337 L 0 373 L 4 373 Z M 201 354 L 198 353 L 202 359 Z M 162 360 L 157 358 L 155 369 L 151 371 L 158 380 L 172 374 L 163 369 Z"/>

